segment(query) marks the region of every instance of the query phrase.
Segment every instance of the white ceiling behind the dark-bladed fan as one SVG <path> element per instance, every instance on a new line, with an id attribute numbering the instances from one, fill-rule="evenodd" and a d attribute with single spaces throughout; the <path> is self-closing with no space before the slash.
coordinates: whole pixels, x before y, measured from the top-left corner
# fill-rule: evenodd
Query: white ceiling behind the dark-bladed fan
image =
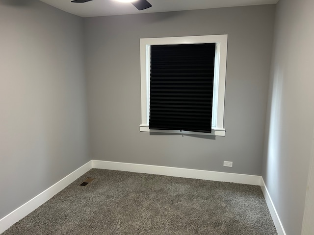
<path id="1" fill-rule="evenodd" d="M 116 0 L 92 0 L 85 3 L 73 3 L 71 0 L 41 1 L 81 17 L 275 4 L 278 2 L 278 0 L 148 0 L 153 6 L 139 11 L 131 3 L 118 2 Z"/>

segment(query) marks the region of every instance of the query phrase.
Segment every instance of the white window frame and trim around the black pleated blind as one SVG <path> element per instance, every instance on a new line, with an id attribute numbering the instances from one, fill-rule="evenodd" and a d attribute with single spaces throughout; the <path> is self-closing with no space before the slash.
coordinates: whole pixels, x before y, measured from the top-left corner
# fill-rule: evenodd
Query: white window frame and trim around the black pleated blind
<path id="1" fill-rule="evenodd" d="M 195 44 L 195 43 L 216 43 L 211 133 L 180 130 L 149 129 L 150 46 L 171 44 Z M 141 110 L 142 110 L 142 123 L 140 124 L 141 132 L 162 132 L 189 135 L 225 136 L 226 130 L 224 129 L 224 105 L 225 105 L 225 83 L 227 67 L 227 43 L 228 43 L 227 34 L 140 39 Z"/>

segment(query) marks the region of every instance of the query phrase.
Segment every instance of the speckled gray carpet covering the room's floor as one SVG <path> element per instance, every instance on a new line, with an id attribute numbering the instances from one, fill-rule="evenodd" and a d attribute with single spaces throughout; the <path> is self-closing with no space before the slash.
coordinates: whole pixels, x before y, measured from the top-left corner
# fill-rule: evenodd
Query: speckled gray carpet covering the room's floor
<path id="1" fill-rule="evenodd" d="M 2 235 L 108 234 L 277 232 L 259 186 L 91 169 Z"/>

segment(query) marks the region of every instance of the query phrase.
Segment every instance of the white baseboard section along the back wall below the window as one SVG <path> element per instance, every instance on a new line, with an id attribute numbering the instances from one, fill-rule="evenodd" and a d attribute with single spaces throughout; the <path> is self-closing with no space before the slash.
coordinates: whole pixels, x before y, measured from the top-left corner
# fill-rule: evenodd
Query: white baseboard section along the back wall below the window
<path id="1" fill-rule="evenodd" d="M 156 175 L 168 175 L 201 180 L 213 180 L 222 182 L 234 182 L 238 184 L 261 185 L 261 176 L 258 175 L 244 175 L 235 173 L 225 173 L 208 170 L 195 170 L 186 168 L 177 168 L 159 165 L 145 165 L 145 164 L 131 164 L 92 160 L 93 168 L 108 169 L 108 170 L 122 170 L 137 173 L 148 173 Z"/>

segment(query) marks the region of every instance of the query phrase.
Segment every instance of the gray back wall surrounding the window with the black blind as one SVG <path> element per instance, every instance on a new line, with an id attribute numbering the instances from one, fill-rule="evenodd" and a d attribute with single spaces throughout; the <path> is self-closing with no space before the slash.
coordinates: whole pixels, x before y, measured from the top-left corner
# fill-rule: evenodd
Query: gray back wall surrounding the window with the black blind
<path id="1" fill-rule="evenodd" d="M 262 5 L 85 18 L 92 159 L 261 175 L 274 13 Z M 214 34 L 229 35 L 226 136 L 139 132 L 139 39 Z"/>

